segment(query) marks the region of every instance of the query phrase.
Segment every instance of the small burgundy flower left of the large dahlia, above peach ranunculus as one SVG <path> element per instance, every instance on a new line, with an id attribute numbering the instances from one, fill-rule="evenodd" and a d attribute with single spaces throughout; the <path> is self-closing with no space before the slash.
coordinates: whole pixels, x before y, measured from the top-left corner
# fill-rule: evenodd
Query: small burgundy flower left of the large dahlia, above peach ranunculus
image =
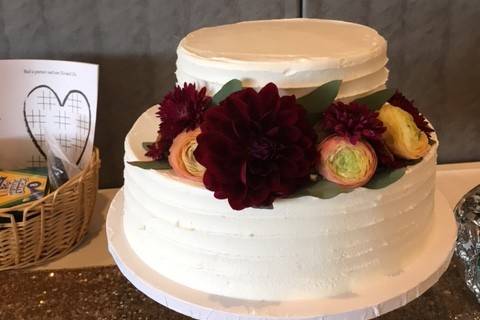
<path id="1" fill-rule="evenodd" d="M 149 146 L 146 156 L 155 160 L 163 159 L 178 134 L 199 126 L 211 103 L 206 90 L 204 87 L 197 91 L 195 84 L 184 83 L 183 88 L 177 85 L 165 95 L 157 112 L 160 118 L 159 139 Z"/>

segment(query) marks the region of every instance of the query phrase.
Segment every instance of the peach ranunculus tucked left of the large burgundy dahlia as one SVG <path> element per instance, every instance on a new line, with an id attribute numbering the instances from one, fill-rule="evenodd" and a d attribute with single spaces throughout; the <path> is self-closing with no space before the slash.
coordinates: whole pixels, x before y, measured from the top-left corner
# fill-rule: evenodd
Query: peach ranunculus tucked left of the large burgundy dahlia
<path id="1" fill-rule="evenodd" d="M 197 128 L 180 133 L 173 139 L 168 156 L 168 162 L 179 177 L 195 182 L 202 182 L 205 173 L 205 167 L 198 163 L 193 155 L 200 132 L 200 128 Z"/>

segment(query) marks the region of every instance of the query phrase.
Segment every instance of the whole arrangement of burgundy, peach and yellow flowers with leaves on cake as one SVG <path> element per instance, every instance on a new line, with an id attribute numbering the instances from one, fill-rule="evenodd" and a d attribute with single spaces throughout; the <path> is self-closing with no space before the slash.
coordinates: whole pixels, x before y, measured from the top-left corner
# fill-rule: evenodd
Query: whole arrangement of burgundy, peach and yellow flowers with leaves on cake
<path id="1" fill-rule="evenodd" d="M 272 207 L 276 198 L 332 198 L 355 188 L 384 188 L 427 154 L 433 129 L 399 91 L 336 101 L 341 81 L 310 94 L 280 96 L 231 80 L 213 97 L 194 84 L 163 98 L 151 161 L 130 165 L 173 170 L 204 185 L 235 210 Z"/>

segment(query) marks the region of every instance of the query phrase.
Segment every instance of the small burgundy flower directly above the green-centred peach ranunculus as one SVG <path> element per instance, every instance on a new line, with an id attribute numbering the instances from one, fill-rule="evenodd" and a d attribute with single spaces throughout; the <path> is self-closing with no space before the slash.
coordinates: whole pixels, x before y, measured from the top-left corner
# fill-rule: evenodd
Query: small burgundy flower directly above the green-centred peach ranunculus
<path id="1" fill-rule="evenodd" d="M 350 102 L 334 102 L 324 112 L 322 127 L 329 133 L 347 137 L 352 144 L 365 138 L 380 140 L 386 128 L 377 119 L 378 113 L 372 112 L 367 106 Z"/>

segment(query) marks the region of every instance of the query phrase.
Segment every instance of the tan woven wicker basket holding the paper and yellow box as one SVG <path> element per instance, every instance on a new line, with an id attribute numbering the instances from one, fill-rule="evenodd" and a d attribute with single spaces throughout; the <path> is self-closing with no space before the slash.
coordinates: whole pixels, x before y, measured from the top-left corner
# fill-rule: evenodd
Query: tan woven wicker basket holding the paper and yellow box
<path id="1" fill-rule="evenodd" d="M 99 167 L 95 149 L 88 166 L 55 192 L 0 209 L 0 270 L 42 264 L 81 242 L 95 205 Z"/>

